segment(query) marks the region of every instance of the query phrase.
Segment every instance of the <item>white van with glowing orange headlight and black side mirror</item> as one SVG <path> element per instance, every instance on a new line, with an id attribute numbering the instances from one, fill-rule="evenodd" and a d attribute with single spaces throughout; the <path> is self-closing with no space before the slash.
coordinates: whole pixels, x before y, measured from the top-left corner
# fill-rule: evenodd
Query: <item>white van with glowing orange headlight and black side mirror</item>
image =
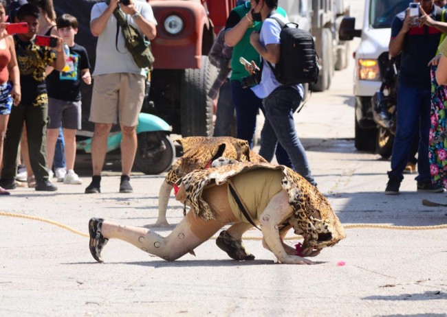
<path id="1" fill-rule="evenodd" d="M 388 45 L 394 16 L 408 8 L 411 0 L 365 0 L 362 30 L 355 29 L 356 19 L 345 17 L 340 25 L 340 40 L 360 37 L 354 52 L 353 93 L 356 96 L 355 146 L 358 150 L 375 151 L 380 143 L 373 120 L 371 98 L 382 82 L 389 60 Z M 379 138 L 379 139 L 378 139 Z"/>

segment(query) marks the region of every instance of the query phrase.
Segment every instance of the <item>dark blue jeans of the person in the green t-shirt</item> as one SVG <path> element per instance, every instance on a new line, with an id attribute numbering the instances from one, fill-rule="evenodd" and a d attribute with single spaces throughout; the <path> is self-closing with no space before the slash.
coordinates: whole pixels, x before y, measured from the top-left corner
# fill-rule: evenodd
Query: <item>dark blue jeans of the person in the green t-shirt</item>
<path id="1" fill-rule="evenodd" d="M 250 149 L 256 130 L 256 117 L 262 108 L 262 99 L 254 95 L 249 88 L 242 88 L 241 82 L 231 81 L 231 95 L 236 109 L 237 139 L 247 140 Z"/>

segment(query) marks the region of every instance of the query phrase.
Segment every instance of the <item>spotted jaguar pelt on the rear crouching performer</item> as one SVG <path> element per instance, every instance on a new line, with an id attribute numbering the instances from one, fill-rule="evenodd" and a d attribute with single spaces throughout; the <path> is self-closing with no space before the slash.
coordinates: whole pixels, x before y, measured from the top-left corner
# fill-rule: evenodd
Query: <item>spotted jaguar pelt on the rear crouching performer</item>
<path id="1" fill-rule="evenodd" d="M 184 154 L 166 176 L 169 185 L 174 185 L 189 172 L 210 167 L 212 161 L 221 156 L 238 162 L 267 162 L 250 150 L 247 141 L 233 137 L 186 137 L 174 142 L 182 145 Z"/>

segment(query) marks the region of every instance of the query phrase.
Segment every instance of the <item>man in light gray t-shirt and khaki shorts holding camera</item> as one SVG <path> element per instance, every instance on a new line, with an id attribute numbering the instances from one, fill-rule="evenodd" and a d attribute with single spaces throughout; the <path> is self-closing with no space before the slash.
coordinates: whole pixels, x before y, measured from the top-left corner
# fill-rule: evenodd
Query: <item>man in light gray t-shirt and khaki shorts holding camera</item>
<path id="1" fill-rule="evenodd" d="M 117 9 L 118 8 L 118 9 Z M 100 193 L 101 171 L 107 153 L 107 138 L 113 124 L 120 120 L 122 131 L 120 193 L 131 193 L 130 174 L 137 150 L 136 127 L 144 101 L 145 69 L 138 67 L 126 43 L 113 11 L 120 10 L 128 25 L 141 36 L 155 38 L 155 17 L 145 1 L 109 0 L 91 8 L 90 30 L 98 36 L 94 89 L 89 121 L 95 130 L 91 141 L 93 177 L 85 193 Z"/>

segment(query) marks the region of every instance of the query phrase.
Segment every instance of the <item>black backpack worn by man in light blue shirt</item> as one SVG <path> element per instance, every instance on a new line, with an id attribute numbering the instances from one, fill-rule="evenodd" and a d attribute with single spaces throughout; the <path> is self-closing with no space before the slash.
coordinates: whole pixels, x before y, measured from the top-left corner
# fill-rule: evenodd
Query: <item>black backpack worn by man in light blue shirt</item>
<path id="1" fill-rule="evenodd" d="M 271 16 L 281 26 L 279 34 L 281 57 L 278 64 L 272 67 L 276 80 L 283 85 L 315 84 L 318 80 L 318 56 L 312 34 L 298 29 L 296 23 L 283 23 Z M 289 25 L 294 25 L 290 27 Z"/>

